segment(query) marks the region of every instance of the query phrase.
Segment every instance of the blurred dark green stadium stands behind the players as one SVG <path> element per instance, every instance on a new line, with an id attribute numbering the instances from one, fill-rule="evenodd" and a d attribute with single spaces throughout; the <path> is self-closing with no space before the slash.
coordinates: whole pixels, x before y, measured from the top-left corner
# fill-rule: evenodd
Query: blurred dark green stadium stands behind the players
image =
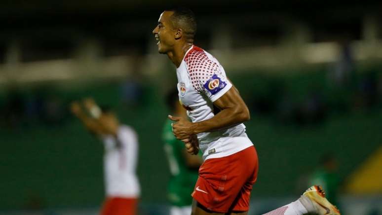
<path id="1" fill-rule="evenodd" d="M 99 141 L 68 109 L 93 97 L 139 135 L 140 215 L 165 215 L 163 95 L 175 69 L 152 30 L 172 0 L 7 1 L 0 8 L 0 214 L 93 215 Z M 336 161 L 344 215 L 382 214 L 381 1 L 188 2 L 195 44 L 251 110 L 260 160 L 251 215 L 295 199 Z M 325 188 L 325 186 L 324 186 Z"/>

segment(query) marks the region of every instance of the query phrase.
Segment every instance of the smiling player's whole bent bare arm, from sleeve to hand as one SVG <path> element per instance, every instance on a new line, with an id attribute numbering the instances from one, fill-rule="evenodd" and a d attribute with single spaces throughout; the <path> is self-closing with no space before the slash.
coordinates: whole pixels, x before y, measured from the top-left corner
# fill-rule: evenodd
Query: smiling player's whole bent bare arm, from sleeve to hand
<path id="1" fill-rule="evenodd" d="M 169 115 L 171 120 L 176 121 L 173 124 L 175 137 L 187 143 L 192 135 L 228 128 L 250 119 L 248 107 L 234 86 L 213 104 L 221 111 L 204 121 L 190 122 L 184 118 Z"/>

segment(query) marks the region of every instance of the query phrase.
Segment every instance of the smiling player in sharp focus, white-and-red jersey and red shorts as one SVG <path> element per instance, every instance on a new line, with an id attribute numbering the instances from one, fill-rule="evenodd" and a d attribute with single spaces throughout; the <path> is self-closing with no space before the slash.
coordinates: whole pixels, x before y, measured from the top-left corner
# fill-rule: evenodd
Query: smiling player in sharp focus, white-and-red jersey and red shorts
<path id="1" fill-rule="evenodd" d="M 247 215 L 258 173 L 257 152 L 243 124 L 250 118 L 249 110 L 219 61 L 193 45 L 195 33 L 195 16 L 186 8 L 165 10 L 153 30 L 158 52 L 177 68 L 179 100 L 191 119 L 169 115 L 174 136 L 191 153 L 198 148 L 203 153 L 191 194 L 192 215 Z M 199 146 L 192 141 L 194 135 Z M 324 192 L 312 186 L 297 201 L 268 215 L 310 212 L 340 214 Z"/>

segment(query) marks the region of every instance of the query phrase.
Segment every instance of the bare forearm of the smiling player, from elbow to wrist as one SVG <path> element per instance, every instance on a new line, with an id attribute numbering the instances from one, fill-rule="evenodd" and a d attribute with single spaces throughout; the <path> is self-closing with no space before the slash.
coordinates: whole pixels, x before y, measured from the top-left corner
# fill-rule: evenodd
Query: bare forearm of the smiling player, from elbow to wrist
<path id="1" fill-rule="evenodd" d="M 221 110 L 218 114 L 208 120 L 195 123 L 194 133 L 211 132 L 229 128 L 250 119 L 247 107 L 230 107 Z"/>

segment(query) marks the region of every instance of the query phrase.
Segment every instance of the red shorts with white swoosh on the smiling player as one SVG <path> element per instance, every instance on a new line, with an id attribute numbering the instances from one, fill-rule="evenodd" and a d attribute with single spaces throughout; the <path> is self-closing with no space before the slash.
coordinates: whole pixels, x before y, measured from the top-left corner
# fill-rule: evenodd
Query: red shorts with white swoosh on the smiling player
<path id="1" fill-rule="evenodd" d="M 258 170 L 254 146 L 227 157 L 207 159 L 199 168 L 191 196 L 213 212 L 248 211 Z"/>

